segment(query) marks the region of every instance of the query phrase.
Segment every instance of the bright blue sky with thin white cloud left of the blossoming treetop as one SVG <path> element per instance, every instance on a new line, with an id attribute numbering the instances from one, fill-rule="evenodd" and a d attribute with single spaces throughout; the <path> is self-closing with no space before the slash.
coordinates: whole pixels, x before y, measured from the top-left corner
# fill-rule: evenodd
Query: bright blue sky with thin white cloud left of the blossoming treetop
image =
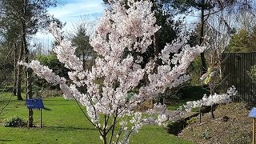
<path id="1" fill-rule="evenodd" d="M 81 19 L 97 20 L 102 16 L 104 4 L 102 0 L 66 0 L 64 5 L 49 9 L 49 14 L 54 15 L 62 22 L 66 22 L 64 31 L 70 32 L 73 25 L 76 26 Z M 45 50 L 50 49 L 53 37 L 50 34 L 38 33 L 34 41 L 42 42 Z"/>

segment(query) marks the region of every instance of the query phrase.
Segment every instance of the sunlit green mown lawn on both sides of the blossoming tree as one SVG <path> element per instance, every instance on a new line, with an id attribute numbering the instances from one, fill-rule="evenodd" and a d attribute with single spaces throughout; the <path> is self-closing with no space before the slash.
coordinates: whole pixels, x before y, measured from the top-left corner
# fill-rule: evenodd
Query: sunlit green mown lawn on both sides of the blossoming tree
<path id="1" fill-rule="evenodd" d="M 0 96 L 0 107 L 5 106 L 9 94 Z M 49 110 L 42 110 L 43 127 L 40 128 L 7 128 L 0 126 L 0 143 L 102 143 L 98 131 L 90 125 L 74 101 L 64 98 L 43 99 Z M 4 118 L 18 115 L 26 119 L 27 109 L 24 101 L 11 98 L 10 104 L 0 115 Z M 39 110 L 34 110 L 34 124 L 39 125 Z M 166 133 L 163 127 L 145 126 L 137 135 L 133 135 L 130 143 L 192 143 Z"/>

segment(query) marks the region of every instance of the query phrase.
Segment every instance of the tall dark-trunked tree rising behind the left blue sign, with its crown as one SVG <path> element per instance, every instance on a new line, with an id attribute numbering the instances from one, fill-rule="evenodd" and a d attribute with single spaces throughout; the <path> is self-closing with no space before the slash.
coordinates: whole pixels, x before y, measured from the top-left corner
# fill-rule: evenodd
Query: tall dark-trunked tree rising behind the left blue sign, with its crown
<path id="1" fill-rule="evenodd" d="M 9 26 L 18 28 L 19 33 L 16 39 L 19 39 L 18 62 L 22 60 L 29 62 L 28 38 L 49 26 L 53 19 L 48 13 L 47 8 L 57 6 L 55 0 L 2 0 L 2 18 L 3 27 L 8 30 Z M 18 44 L 18 43 L 17 43 Z M 32 70 L 26 70 L 26 98 L 32 98 Z M 21 95 L 22 66 L 18 66 L 17 78 L 17 98 L 22 100 Z M 33 111 L 29 110 L 29 124 L 33 126 Z"/>

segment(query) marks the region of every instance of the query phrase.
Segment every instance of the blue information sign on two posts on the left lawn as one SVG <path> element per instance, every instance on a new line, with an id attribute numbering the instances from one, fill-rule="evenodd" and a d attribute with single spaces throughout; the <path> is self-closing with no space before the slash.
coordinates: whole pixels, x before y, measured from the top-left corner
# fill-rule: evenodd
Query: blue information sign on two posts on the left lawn
<path id="1" fill-rule="evenodd" d="M 26 106 L 29 111 L 31 109 L 40 110 L 40 128 L 42 128 L 42 108 L 45 107 L 42 103 L 42 98 L 26 99 Z M 28 128 L 30 128 L 30 118 L 28 119 L 27 123 Z"/>

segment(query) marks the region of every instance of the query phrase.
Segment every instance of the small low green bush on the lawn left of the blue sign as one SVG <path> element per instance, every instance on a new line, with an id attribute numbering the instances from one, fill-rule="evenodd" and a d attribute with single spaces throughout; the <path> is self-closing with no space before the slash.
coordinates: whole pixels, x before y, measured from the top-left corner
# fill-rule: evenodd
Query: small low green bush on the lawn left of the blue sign
<path id="1" fill-rule="evenodd" d="M 26 122 L 22 118 L 19 118 L 17 115 L 11 118 L 4 119 L 4 127 L 21 127 L 26 126 Z"/>

